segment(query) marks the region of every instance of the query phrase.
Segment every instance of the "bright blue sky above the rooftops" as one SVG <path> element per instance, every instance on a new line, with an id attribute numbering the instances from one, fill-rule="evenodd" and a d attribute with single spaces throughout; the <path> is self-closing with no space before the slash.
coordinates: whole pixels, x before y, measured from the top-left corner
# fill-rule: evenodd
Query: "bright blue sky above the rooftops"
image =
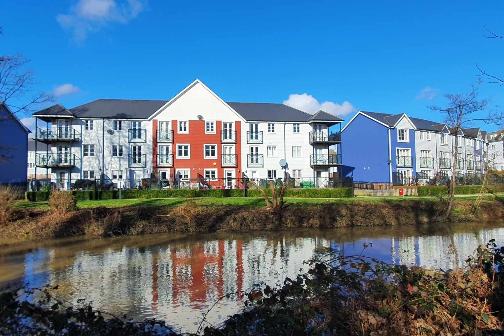
<path id="1" fill-rule="evenodd" d="M 69 108 L 169 99 L 199 78 L 227 101 L 295 95 L 347 120 L 367 110 L 440 121 L 426 105 L 476 82 L 476 62 L 504 76 L 504 40 L 482 37 L 483 25 L 504 35 L 497 1 L 26 0 L 0 14 L 0 53 L 32 59 L 36 89 Z M 504 108 L 504 87 L 484 83 L 480 95 Z"/>

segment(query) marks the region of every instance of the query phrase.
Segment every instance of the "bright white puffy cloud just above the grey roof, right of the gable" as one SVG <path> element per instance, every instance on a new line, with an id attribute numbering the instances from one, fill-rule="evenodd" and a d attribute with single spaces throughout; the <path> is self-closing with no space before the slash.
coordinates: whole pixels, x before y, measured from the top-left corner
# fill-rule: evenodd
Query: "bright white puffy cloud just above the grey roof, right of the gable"
<path id="1" fill-rule="evenodd" d="M 346 100 L 342 104 L 331 101 L 325 101 L 321 104 L 317 99 L 313 98 L 313 96 L 306 93 L 302 95 L 289 95 L 289 99 L 284 100 L 284 104 L 311 114 L 319 110 L 324 110 L 334 115 L 343 116 L 357 111 L 357 108 Z"/>

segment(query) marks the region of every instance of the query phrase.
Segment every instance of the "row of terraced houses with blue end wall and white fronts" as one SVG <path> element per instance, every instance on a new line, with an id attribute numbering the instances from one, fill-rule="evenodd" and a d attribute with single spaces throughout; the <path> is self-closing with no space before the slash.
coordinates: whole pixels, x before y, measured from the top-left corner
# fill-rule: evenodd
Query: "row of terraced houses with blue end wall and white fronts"
<path id="1" fill-rule="evenodd" d="M 468 128 L 457 136 L 457 176 L 483 174 L 486 132 Z M 452 175 L 455 135 L 442 123 L 359 111 L 343 127 L 342 140 L 343 175 L 355 181 L 404 185 Z"/>

